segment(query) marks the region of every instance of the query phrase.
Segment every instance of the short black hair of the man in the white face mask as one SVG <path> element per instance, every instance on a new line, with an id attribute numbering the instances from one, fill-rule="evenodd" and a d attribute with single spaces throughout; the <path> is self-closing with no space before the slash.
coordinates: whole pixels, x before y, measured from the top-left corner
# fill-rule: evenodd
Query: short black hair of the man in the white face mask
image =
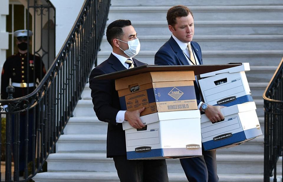
<path id="1" fill-rule="evenodd" d="M 109 44 L 113 47 L 112 41 L 113 39 L 120 39 L 120 37 L 124 34 L 123 27 L 130 26 L 130 20 L 115 20 L 111 24 L 108 25 L 106 29 L 106 38 Z"/>

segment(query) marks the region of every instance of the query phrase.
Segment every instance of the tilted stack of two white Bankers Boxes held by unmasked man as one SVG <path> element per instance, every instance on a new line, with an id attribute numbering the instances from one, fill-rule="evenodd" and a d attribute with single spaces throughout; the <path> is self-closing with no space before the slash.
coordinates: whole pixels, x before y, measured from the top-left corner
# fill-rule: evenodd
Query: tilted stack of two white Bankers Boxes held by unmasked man
<path id="1" fill-rule="evenodd" d="M 201 115 L 201 138 L 205 150 L 229 148 L 262 135 L 252 102 L 245 71 L 249 63 L 200 75 L 200 89 L 205 103 L 226 106 L 224 120 L 212 123 Z"/>

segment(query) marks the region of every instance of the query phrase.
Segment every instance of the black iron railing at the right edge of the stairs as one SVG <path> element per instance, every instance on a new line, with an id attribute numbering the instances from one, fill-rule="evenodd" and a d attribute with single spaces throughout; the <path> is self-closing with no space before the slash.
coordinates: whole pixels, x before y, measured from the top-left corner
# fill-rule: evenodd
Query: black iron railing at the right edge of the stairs
<path id="1" fill-rule="evenodd" d="M 277 173 L 282 173 L 282 169 L 277 170 L 277 161 L 283 151 L 283 58 L 266 87 L 263 98 L 264 182 L 269 182 L 271 176 L 276 182 Z"/>

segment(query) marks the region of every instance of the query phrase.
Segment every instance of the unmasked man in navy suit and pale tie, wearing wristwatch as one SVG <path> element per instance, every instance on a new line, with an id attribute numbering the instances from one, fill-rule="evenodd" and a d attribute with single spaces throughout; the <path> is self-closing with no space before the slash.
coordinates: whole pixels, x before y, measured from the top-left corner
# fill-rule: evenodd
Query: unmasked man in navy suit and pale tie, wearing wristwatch
<path id="1" fill-rule="evenodd" d="M 203 64 L 198 43 L 192 42 L 194 19 L 186 6 L 173 6 L 167 11 L 168 28 L 171 38 L 157 51 L 154 64 L 158 65 L 195 65 Z M 195 82 L 195 93 L 200 111 L 205 112 L 212 122 L 224 119 L 220 112 L 222 106 L 212 106 L 201 102 L 200 91 Z M 181 165 L 190 182 L 218 181 L 216 150 L 202 151 L 200 157 L 180 159 Z"/>

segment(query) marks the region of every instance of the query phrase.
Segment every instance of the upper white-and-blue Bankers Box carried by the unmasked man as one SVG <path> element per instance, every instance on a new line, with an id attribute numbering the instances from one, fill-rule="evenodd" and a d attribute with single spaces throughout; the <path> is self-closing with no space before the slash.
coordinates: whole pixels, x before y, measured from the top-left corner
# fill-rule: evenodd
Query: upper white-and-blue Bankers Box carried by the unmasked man
<path id="1" fill-rule="evenodd" d="M 249 63 L 200 75 L 198 80 L 204 102 L 231 106 L 253 101 L 245 71 Z"/>

